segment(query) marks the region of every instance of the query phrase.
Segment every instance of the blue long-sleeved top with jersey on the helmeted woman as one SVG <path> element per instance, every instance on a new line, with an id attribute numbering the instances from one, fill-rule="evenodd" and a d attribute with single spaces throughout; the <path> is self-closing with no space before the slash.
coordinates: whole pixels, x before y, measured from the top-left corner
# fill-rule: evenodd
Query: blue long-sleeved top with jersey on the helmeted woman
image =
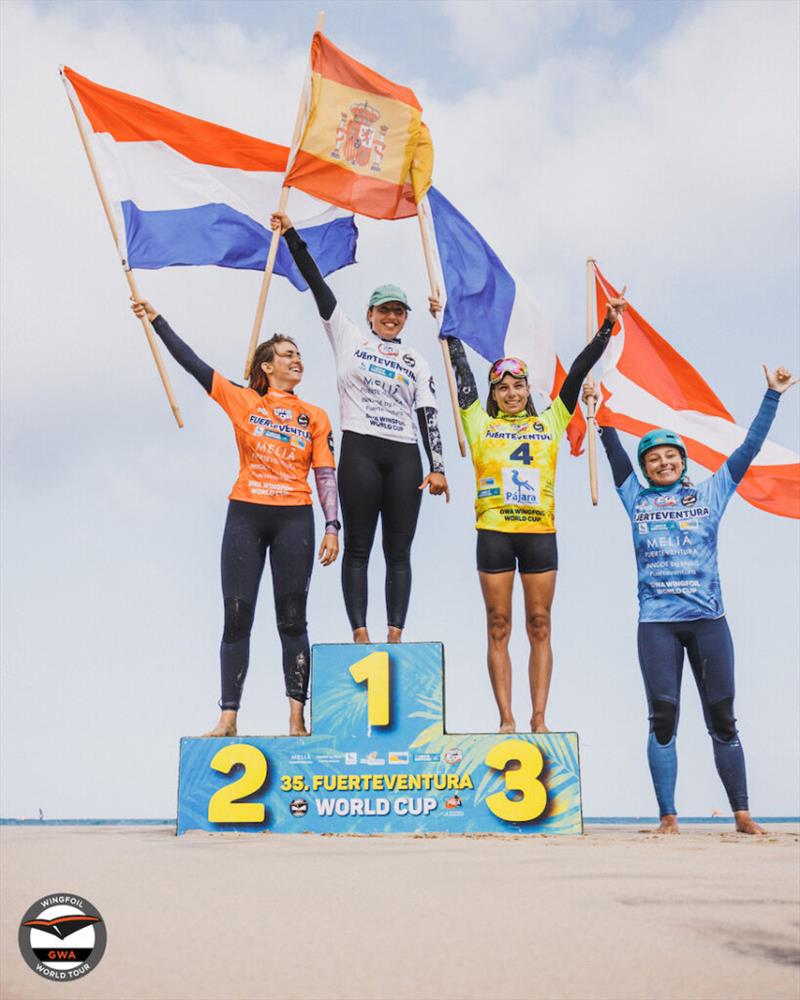
<path id="1" fill-rule="evenodd" d="M 617 432 L 602 433 L 614 485 L 631 519 L 639 573 L 639 621 L 675 622 L 725 614 L 717 566 L 717 532 L 728 501 L 758 454 L 778 408 L 768 389 L 742 444 L 710 479 L 668 489 L 643 486 Z"/>

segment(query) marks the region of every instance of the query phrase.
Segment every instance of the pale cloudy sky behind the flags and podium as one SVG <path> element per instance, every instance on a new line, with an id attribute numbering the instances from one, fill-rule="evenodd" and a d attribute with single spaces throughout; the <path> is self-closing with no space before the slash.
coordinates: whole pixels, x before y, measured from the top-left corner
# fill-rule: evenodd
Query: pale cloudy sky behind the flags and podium
<path id="1" fill-rule="evenodd" d="M 758 407 L 763 362 L 800 369 L 800 7 L 446 0 L 325 10 L 337 45 L 414 89 L 437 187 L 528 284 L 566 362 L 584 339 L 593 256 L 739 423 Z M 286 144 L 316 12 L 237 0 L 0 4 L 0 815 L 174 815 L 179 737 L 216 718 L 219 547 L 237 472 L 227 418 L 169 359 L 186 424 L 175 425 L 128 311 L 58 66 Z M 442 384 L 416 223 L 359 219 L 359 229 L 359 263 L 331 278 L 337 298 L 358 316 L 375 285 L 406 288 L 417 305 L 408 342 Z M 173 268 L 138 280 L 202 358 L 240 378 L 259 274 Z M 281 278 L 264 335 L 275 330 L 297 338 L 300 394 L 338 430 L 316 310 Z M 472 360 L 480 381 L 486 366 Z M 446 410 L 441 424 L 452 502 L 423 503 L 406 638 L 445 644 L 448 730 L 491 732 L 474 479 Z M 771 437 L 800 451 L 797 388 Z M 557 522 L 549 723 L 580 734 L 587 815 L 654 815 L 634 560 L 602 451 L 592 508 L 585 457 L 562 446 Z M 800 812 L 798 556 L 796 521 L 734 497 L 720 568 L 759 815 Z M 382 574 L 376 545 L 374 638 Z M 240 731 L 273 734 L 285 732 L 287 711 L 266 578 L 264 588 Z M 515 615 L 521 723 L 530 705 L 519 593 Z M 308 618 L 312 642 L 349 639 L 338 564 L 315 569 Z M 724 812 L 687 675 L 678 808 Z"/>

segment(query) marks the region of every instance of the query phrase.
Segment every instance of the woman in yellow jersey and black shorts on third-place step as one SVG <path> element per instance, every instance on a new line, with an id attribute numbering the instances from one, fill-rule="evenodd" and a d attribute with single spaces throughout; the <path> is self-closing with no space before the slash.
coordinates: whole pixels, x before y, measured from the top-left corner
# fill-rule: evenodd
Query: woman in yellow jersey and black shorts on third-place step
<path id="1" fill-rule="evenodd" d="M 436 299 L 430 305 L 434 315 L 439 312 Z M 484 409 L 461 341 L 447 338 L 461 422 L 475 466 L 478 575 L 486 605 L 489 677 L 501 733 L 516 732 L 508 641 L 517 567 L 531 647 L 531 730 L 549 732 L 545 710 L 553 671 L 550 608 L 558 569 L 554 501 L 558 447 L 577 405 L 581 383 L 605 350 L 624 309 L 623 298 L 609 303 L 605 322 L 575 359 L 557 398 L 543 413 L 534 408 L 528 367 L 519 358 L 500 358 L 492 365 Z"/>

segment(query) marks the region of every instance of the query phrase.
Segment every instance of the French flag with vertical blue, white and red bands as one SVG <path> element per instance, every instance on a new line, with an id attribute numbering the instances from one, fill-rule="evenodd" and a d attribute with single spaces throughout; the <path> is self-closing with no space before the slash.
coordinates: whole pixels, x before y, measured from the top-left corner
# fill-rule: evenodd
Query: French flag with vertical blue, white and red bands
<path id="1" fill-rule="evenodd" d="M 539 307 L 472 223 L 434 187 L 427 207 L 444 306 L 439 335 L 458 337 L 490 363 L 506 356 L 522 358 L 534 405 L 545 409 L 567 373 Z M 576 408 L 567 427 L 573 455 L 580 455 L 585 435 L 586 421 Z"/>

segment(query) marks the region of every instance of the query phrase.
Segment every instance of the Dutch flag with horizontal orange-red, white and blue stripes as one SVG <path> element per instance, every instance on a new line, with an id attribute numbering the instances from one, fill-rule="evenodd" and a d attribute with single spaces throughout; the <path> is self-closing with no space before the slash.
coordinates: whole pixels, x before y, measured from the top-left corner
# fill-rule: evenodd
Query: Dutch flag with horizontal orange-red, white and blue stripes
<path id="1" fill-rule="evenodd" d="M 61 68 L 111 201 L 123 262 L 263 271 L 286 146 L 180 114 Z M 355 261 L 351 212 L 301 192 L 292 215 L 323 274 Z M 308 286 L 281 241 L 275 272 Z"/>

